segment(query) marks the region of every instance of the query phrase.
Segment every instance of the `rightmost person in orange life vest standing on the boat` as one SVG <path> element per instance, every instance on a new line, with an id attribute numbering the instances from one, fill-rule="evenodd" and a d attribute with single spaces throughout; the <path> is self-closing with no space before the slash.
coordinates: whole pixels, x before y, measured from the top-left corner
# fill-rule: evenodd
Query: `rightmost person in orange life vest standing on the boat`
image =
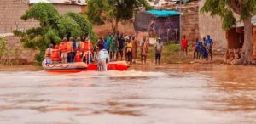
<path id="1" fill-rule="evenodd" d="M 92 53 L 93 53 L 93 44 L 90 42 L 90 39 L 87 39 L 84 42 L 84 54 L 83 54 L 83 61 L 86 63 L 92 62 Z"/>

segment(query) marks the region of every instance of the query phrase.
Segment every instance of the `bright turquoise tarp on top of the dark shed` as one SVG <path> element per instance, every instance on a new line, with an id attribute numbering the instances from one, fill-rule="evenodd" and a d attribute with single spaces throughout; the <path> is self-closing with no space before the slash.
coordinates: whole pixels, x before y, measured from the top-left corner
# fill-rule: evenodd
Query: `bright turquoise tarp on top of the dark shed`
<path id="1" fill-rule="evenodd" d="M 148 10 L 147 13 L 154 14 L 156 17 L 172 17 L 177 16 L 179 13 L 173 10 Z"/>

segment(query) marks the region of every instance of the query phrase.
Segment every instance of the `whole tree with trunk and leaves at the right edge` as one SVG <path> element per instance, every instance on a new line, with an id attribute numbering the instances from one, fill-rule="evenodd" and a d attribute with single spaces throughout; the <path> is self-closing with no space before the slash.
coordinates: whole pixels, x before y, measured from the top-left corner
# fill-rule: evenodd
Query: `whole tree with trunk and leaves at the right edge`
<path id="1" fill-rule="evenodd" d="M 223 20 L 222 27 L 224 30 L 236 25 L 237 21 L 244 23 L 244 44 L 240 65 L 247 65 L 253 60 L 253 24 L 251 20 L 255 12 L 256 0 L 206 0 L 201 8 L 201 13 L 220 16 Z M 238 20 L 234 14 L 239 16 Z"/>

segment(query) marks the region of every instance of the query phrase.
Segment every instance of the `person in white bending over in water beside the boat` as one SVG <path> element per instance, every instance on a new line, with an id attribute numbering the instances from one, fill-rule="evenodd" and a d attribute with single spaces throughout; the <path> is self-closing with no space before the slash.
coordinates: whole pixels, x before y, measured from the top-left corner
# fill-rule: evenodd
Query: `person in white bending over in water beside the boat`
<path id="1" fill-rule="evenodd" d="M 97 54 L 98 61 L 98 71 L 107 71 L 108 70 L 108 62 L 109 62 L 109 54 L 108 50 L 102 49 Z"/>

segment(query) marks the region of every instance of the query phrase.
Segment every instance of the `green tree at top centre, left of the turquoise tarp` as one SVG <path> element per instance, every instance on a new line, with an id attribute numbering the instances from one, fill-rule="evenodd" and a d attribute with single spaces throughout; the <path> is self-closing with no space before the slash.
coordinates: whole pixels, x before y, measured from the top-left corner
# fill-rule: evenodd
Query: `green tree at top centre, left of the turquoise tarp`
<path id="1" fill-rule="evenodd" d="M 135 8 L 149 8 L 145 0 L 89 0 L 87 6 L 86 14 L 92 23 L 102 25 L 108 20 L 112 23 L 113 31 L 118 30 L 120 20 L 130 20 L 133 17 Z"/>

